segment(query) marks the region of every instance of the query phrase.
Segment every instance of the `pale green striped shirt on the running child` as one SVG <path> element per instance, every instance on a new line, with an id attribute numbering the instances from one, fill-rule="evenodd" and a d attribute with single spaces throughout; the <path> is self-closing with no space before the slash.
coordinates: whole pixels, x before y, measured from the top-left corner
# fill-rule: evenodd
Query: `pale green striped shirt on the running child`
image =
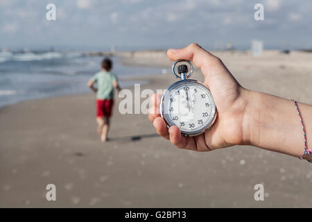
<path id="1" fill-rule="evenodd" d="M 98 85 L 96 99 L 114 99 L 114 86 L 112 83 L 117 81 L 117 76 L 110 72 L 99 71 L 93 76 L 94 82 Z"/>

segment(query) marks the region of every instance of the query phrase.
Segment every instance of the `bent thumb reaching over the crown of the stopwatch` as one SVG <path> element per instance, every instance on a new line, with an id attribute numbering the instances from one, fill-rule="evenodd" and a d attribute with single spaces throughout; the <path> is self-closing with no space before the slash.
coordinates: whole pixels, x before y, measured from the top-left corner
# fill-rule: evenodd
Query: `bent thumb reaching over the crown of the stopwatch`
<path id="1" fill-rule="evenodd" d="M 183 49 L 168 49 L 167 56 L 173 61 L 179 59 L 191 60 L 194 65 L 200 69 L 204 68 L 206 65 L 214 66 L 222 64 L 220 59 L 205 49 L 202 49 L 202 47 L 196 43 L 189 44 L 189 46 Z"/>

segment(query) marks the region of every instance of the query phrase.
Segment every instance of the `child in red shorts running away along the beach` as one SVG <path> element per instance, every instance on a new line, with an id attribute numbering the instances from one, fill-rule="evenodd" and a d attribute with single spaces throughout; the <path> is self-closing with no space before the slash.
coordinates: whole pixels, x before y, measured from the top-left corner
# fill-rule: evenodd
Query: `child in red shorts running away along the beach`
<path id="1" fill-rule="evenodd" d="M 101 71 L 96 73 L 87 83 L 96 92 L 96 122 L 98 123 L 98 134 L 101 141 L 107 140 L 108 129 L 110 128 L 110 117 L 114 105 L 114 88 L 121 91 L 117 76 L 112 74 L 112 60 L 104 58 L 101 63 Z M 94 85 L 97 87 L 94 87 Z"/>

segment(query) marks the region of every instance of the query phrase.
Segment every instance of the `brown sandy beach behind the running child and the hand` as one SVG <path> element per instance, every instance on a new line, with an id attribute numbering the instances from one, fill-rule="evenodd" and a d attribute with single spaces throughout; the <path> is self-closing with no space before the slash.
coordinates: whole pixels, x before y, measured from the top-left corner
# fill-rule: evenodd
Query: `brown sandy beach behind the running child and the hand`
<path id="1" fill-rule="evenodd" d="M 243 87 L 312 104 L 312 53 L 214 53 Z M 130 53 L 123 63 L 172 65 L 164 51 Z M 148 80 L 141 89 L 156 91 L 176 78 L 168 72 L 131 80 Z M 92 93 L 1 108 L 0 207 L 312 207 L 309 162 L 249 146 L 181 150 L 155 134 L 146 114 L 120 114 L 120 101 L 105 144 Z M 264 201 L 254 200 L 259 183 Z M 56 186 L 56 201 L 46 200 L 48 184 Z"/>

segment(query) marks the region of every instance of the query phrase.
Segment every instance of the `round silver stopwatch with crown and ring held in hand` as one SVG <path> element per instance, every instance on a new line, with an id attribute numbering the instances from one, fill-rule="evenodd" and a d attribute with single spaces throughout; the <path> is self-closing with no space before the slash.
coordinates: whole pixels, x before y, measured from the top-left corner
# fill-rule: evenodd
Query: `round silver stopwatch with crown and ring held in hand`
<path id="1" fill-rule="evenodd" d="M 187 62 L 191 67 L 189 72 L 187 65 L 175 66 L 179 62 Z M 189 60 L 177 60 L 172 66 L 173 75 L 181 80 L 173 83 L 162 95 L 160 103 L 161 117 L 166 121 L 167 128 L 177 126 L 181 134 L 193 137 L 204 133 L 211 128 L 216 120 L 216 103 L 211 92 L 205 85 L 197 80 L 189 79 L 193 74 L 193 65 Z"/>

